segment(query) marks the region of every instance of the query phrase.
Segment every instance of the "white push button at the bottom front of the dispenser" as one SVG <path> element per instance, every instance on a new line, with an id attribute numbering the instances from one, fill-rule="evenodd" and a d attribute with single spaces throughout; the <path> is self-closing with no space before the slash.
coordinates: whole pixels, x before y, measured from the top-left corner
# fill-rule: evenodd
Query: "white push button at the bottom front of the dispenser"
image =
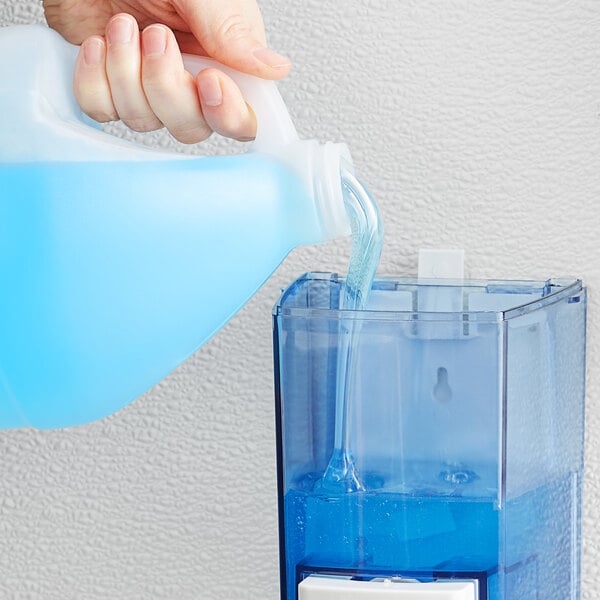
<path id="1" fill-rule="evenodd" d="M 311 575 L 298 585 L 298 600 L 478 600 L 475 581 L 422 583 L 405 579 L 357 581 Z"/>

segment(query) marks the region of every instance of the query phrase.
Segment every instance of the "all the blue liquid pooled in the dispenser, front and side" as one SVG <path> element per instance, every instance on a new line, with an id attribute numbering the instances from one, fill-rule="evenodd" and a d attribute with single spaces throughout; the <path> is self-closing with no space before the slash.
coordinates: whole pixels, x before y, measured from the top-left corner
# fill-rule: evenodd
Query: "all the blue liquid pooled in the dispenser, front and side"
<path id="1" fill-rule="evenodd" d="M 285 496 L 287 600 L 296 600 L 297 578 L 311 572 L 422 579 L 470 573 L 488 600 L 572 598 L 575 541 L 564 535 L 575 508 L 571 478 L 502 509 L 470 484 L 461 496 L 460 484 L 450 492 L 440 478 L 429 494 L 389 491 L 382 480 L 370 490 L 366 475 L 367 489 L 354 493 L 324 493 L 315 481 L 318 475 L 307 475 Z M 511 538 L 502 538 L 505 527 Z"/>

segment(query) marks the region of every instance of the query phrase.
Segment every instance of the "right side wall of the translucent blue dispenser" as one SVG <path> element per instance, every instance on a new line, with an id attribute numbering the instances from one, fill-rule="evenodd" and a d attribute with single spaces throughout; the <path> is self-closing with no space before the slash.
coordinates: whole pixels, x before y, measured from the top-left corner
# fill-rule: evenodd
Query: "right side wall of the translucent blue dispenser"
<path id="1" fill-rule="evenodd" d="M 585 290 L 506 322 L 506 598 L 580 595 Z"/>

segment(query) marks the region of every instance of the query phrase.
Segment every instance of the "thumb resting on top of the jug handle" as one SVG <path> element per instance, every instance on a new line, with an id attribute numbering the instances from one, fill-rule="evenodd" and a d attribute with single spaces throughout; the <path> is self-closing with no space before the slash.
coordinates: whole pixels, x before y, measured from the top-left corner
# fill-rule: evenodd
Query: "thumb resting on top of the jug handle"
<path id="1" fill-rule="evenodd" d="M 279 79 L 291 63 L 267 48 L 254 0 L 183 0 L 180 15 L 202 48 L 223 64 L 264 79 Z"/>

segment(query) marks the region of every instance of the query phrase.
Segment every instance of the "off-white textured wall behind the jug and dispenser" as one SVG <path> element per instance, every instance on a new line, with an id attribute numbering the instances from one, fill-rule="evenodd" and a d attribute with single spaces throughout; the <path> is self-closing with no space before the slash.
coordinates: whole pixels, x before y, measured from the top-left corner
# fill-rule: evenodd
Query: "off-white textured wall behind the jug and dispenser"
<path id="1" fill-rule="evenodd" d="M 346 141 L 380 203 L 381 273 L 412 274 L 419 247 L 449 246 L 466 249 L 474 277 L 589 286 L 583 597 L 596 598 L 600 3 L 262 7 L 272 46 L 295 62 L 281 89 L 299 131 Z M 37 1 L 0 5 L 0 25 L 40 20 Z M 231 148 L 194 151 L 213 149 Z M 344 271 L 348 252 L 345 241 L 296 250 L 215 339 L 119 414 L 2 432 L 0 597 L 275 600 L 270 311 L 281 286 Z"/>

